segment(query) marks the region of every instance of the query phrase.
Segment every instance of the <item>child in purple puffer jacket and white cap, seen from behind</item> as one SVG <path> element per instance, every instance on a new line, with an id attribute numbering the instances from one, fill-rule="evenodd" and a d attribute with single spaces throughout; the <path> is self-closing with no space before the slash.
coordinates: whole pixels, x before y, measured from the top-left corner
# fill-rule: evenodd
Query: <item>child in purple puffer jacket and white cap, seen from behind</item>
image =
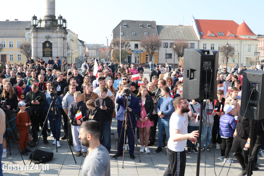
<path id="1" fill-rule="evenodd" d="M 224 106 L 224 115 L 220 117 L 220 126 L 219 126 L 219 134 L 222 138 L 222 146 L 221 146 L 221 158 L 220 160 L 224 163 L 233 163 L 233 160 L 229 159 L 229 152 L 232 147 L 233 139 L 234 139 L 234 131 L 237 123 L 235 122 L 234 115 L 232 115 L 234 105 L 225 105 Z"/>

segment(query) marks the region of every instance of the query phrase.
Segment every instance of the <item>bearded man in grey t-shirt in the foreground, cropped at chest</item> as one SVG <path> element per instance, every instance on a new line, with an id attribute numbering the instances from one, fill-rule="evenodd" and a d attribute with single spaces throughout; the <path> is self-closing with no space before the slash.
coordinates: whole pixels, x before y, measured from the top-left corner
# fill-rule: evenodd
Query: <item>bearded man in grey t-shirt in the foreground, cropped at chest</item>
<path id="1" fill-rule="evenodd" d="M 87 146 L 82 174 L 110 176 L 110 156 L 104 146 L 100 144 L 100 126 L 96 121 L 87 121 L 81 125 L 79 138 L 82 144 Z"/>

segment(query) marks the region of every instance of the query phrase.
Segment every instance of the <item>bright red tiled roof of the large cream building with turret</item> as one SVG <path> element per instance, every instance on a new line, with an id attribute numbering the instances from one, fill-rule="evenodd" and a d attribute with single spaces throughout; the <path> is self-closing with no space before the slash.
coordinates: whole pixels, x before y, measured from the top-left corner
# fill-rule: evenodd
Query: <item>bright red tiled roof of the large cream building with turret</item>
<path id="1" fill-rule="evenodd" d="M 198 28 L 198 31 L 199 31 L 199 35 L 201 35 L 200 32 L 203 32 L 204 34 L 208 34 L 209 35 L 209 31 L 211 33 L 215 34 L 215 36 L 201 35 L 201 39 L 256 40 L 256 39 L 248 39 L 248 38 L 245 39 L 245 38 L 236 36 L 236 34 L 238 32 L 239 24 L 237 24 L 233 20 L 198 20 L 198 19 L 196 19 L 195 21 L 196 21 L 196 25 L 197 25 L 197 28 Z M 242 25 L 242 27 L 243 27 L 243 25 Z M 245 27 L 243 27 L 243 29 L 244 28 Z M 248 29 L 249 29 L 249 27 L 248 27 Z M 218 32 L 224 33 L 224 36 L 223 35 L 218 35 L 217 34 Z M 229 36 L 228 37 L 229 34 L 234 34 L 235 36 L 234 37 L 233 36 Z M 249 35 L 249 34 L 247 34 L 247 35 Z M 255 35 L 255 34 L 253 33 L 253 35 Z"/>

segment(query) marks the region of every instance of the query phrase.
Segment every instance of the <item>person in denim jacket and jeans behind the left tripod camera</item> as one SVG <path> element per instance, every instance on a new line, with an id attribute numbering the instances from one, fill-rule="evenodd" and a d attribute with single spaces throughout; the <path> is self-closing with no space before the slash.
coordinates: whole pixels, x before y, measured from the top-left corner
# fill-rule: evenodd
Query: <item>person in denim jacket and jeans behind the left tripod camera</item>
<path id="1" fill-rule="evenodd" d="M 58 112 L 55 111 L 55 109 L 53 109 L 53 107 L 50 109 L 50 112 L 48 114 L 48 118 L 49 118 L 49 122 L 50 122 L 50 128 L 51 128 L 51 132 L 54 136 L 54 142 L 52 143 L 53 145 L 56 145 L 56 141 L 57 141 L 57 147 L 60 147 L 60 118 L 62 117 L 61 114 L 61 110 L 62 110 L 62 97 L 56 95 L 56 89 L 55 87 L 51 87 L 50 89 L 50 96 L 47 97 L 46 103 L 45 103 L 45 110 L 48 113 L 50 104 L 52 103 L 52 101 L 55 101 L 57 108 L 58 108 Z M 53 113 L 55 113 L 55 118 L 56 121 L 53 120 Z M 56 123 L 55 123 L 56 122 Z M 56 129 L 56 133 L 55 133 L 55 129 Z"/>

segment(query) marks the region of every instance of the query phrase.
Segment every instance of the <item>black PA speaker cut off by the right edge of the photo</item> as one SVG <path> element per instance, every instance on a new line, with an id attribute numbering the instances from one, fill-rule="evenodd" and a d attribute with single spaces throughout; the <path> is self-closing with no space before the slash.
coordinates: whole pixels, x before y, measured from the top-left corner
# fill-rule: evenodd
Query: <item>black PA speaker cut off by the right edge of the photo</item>
<path id="1" fill-rule="evenodd" d="M 239 112 L 241 115 L 244 115 L 246 112 L 246 118 L 255 120 L 261 120 L 264 118 L 264 89 L 262 89 L 263 81 L 264 71 L 243 71 L 243 87 L 241 94 L 241 107 Z"/>

